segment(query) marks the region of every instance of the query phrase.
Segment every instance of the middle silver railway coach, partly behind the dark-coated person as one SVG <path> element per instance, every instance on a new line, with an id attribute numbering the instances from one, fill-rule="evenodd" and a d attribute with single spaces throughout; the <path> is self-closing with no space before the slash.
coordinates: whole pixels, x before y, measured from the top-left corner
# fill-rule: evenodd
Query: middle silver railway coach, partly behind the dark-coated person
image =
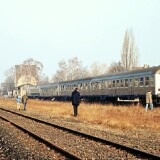
<path id="1" fill-rule="evenodd" d="M 90 82 L 91 78 L 84 78 L 39 86 L 39 98 L 45 100 L 71 100 L 71 93 L 74 87 L 78 87 L 81 92 L 81 98 L 88 99 L 90 96 Z"/>

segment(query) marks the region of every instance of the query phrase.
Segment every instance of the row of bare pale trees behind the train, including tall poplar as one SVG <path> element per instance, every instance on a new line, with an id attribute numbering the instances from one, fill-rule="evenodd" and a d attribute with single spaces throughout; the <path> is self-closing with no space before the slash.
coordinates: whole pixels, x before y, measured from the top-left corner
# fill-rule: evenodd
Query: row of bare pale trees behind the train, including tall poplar
<path id="1" fill-rule="evenodd" d="M 32 58 L 28 58 L 21 65 L 34 65 L 35 71 L 32 73 L 36 77 L 38 85 L 48 84 L 52 82 L 74 80 L 92 76 L 98 76 L 108 73 L 117 73 L 121 71 L 134 70 L 139 66 L 138 49 L 135 45 L 135 38 L 132 29 L 126 30 L 121 50 L 121 59 L 118 62 L 112 62 L 110 66 L 107 64 L 93 63 L 89 68 L 84 67 L 82 61 L 77 57 L 68 60 L 62 59 L 58 63 L 56 73 L 49 78 L 43 73 L 43 64 Z M 29 68 L 28 68 L 29 69 Z M 14 66 L 5 72 L 5 81 L 7 88 L 14 87 Z"/>

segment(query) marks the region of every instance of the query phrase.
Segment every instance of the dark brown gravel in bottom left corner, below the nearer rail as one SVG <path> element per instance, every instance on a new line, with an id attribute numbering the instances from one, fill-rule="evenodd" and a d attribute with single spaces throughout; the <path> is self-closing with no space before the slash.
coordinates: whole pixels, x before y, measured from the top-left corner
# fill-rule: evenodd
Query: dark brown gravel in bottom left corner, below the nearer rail
<path id="1" fill-rule="evenodd" d="M 0 119 L 0 160 L 53 159 L 66 158 Z"/>

